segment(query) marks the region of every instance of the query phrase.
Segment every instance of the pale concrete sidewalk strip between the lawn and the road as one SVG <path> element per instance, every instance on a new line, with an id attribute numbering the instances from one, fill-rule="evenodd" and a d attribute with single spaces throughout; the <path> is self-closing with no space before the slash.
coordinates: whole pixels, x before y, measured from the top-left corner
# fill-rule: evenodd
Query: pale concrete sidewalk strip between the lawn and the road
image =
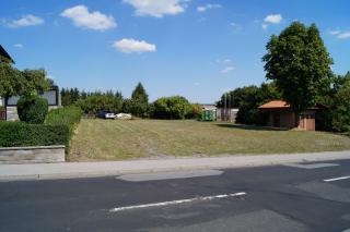
<path id="1" fill-rule="evenodd" d="M 222 169 L 350 159 L 350 151 L 290 155 L 237 155 L 108 162 L 0 164 L 0 181 L 92 178 L 126 173 Z"/>

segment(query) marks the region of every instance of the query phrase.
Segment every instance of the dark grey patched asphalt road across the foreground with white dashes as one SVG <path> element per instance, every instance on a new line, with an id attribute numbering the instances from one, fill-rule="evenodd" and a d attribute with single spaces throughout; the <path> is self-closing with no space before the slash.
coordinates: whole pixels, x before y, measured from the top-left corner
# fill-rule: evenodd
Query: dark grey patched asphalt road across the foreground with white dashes
<path id="1" fill-rule="evenodd" d="M 0 231 L 350 231 L 349 175 L 332 160 L 1 182 Z"/>

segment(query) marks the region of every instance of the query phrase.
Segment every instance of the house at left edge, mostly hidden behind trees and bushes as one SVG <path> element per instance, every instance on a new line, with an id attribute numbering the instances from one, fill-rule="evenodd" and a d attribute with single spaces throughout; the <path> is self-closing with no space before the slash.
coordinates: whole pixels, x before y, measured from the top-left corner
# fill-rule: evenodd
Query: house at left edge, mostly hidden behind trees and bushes
<path id="1" fill-rule="evenodd" d="M 4 59 L 3 59 L 4 58 Z M 0 45 L 0 62 L 14 63 L 10 54 Z M 48 108 L 55 109 L 61 106 L 61 96 L 58 86 L 51 86 L 50 90 L 38 93 L 42 98 L 47 99 Z M 16 121 L 19 120 L 16 103 L 20 99 L 19 96 L 12 96 L 7 101 L 0 97 L 0 121 Z"/>

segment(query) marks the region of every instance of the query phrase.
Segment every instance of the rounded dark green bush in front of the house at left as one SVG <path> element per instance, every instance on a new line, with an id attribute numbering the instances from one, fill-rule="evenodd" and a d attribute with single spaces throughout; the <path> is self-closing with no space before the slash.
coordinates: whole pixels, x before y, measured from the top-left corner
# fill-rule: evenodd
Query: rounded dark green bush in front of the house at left
<path id="1" fill-rule="evenodd" d="M 18 101 L 20 120 L 32 124 L 43 124 L 48 111 L 48 102 L 38 96 L 23 96 Z"/>

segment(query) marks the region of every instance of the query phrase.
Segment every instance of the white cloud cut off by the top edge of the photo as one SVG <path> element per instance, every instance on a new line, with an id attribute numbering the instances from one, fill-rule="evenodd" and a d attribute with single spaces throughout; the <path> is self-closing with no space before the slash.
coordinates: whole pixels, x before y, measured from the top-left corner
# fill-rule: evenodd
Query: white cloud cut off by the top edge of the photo
<path id="1" fill-rule="evenodd" d="M 135 8 L 137 16 L 163 17 L 183 13 L 189 0 L 122 0 Z"/>

